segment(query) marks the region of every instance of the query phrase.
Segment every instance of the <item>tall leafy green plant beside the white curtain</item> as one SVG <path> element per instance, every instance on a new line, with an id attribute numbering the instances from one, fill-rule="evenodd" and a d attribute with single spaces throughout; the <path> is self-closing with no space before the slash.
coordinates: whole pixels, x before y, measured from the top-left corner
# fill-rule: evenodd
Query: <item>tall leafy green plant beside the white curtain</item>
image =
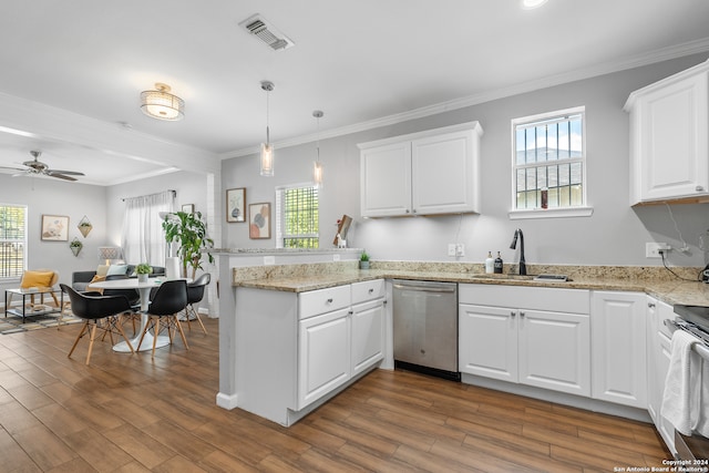
<path id="1" fill-rule="evenodd" d="M 182 275 L 187 277 L 187 266 L 192 268 L 192 279 L 197 269 L 202 269 L 202 255 L 214 247 L 214 240 L 207 236 L 207 225 L 202 220 L 202 212 L 174 212 L 163 219 L 163 230 L 167 245 L 176 243 L 177 256 L 182 260 Z M 209 263 L 214 263 L 207 253 Z"/>

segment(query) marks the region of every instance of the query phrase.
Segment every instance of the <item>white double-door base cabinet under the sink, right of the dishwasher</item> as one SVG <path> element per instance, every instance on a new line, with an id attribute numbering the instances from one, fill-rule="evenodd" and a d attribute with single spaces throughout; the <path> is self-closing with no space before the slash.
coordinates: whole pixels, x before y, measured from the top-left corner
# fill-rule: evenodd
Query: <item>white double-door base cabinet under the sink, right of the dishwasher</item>
<path id="1" fill-rule="evenodd" d="M 461 372 L 590 395 L 588 300 L 578 289 L 459 285 Z"/>

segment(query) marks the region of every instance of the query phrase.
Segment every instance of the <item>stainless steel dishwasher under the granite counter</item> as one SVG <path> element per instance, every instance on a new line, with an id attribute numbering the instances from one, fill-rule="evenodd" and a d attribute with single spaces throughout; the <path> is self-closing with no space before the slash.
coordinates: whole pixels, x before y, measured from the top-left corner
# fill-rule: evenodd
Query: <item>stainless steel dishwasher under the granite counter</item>
<path id="1" fill-rule="evenodd" d="M 393 280 L 394 366 L 460 381 L 458 285 Z"/>

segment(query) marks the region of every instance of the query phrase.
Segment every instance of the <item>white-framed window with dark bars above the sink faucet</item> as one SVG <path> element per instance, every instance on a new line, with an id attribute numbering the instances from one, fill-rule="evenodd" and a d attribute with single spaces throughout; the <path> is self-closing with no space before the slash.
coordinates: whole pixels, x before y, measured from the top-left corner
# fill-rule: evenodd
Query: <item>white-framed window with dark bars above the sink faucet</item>
<path id="1" fill-rule="evenodd" d="M 513 208 L 586 205 L 584 107 L 512 121 Z"/>

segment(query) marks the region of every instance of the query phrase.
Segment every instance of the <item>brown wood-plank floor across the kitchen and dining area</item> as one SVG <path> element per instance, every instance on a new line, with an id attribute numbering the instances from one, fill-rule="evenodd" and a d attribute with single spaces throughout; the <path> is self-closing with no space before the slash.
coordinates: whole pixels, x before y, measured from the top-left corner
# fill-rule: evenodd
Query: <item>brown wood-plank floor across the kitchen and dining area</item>
<path id="1" fill-rule="evenodd" d="M 215 404 L 218 325 L 114 353 L 79 326 L 0 336 L 1 472 L 613 472 L 670 455 L 649 424 L 378 370 L 290 429 Z M 126 327 L 127 328 L 127 327 Z M 265 373 L 267 376 L 267 373 Z"/>

